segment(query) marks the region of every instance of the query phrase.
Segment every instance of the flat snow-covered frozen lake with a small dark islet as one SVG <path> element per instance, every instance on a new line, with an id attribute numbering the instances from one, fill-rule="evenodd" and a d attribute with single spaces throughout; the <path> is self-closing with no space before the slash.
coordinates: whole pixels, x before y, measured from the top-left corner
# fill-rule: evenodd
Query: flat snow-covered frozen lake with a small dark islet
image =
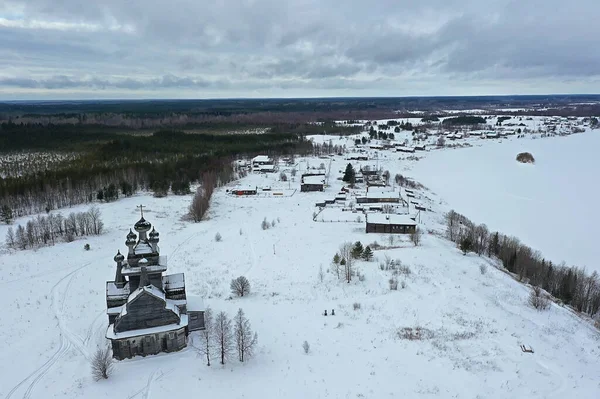
<path id="1" fill-rule="evenodd" d="M 600 272 L 600 131 L 434 151 L 412 175 L 449 207 L 514 235 L 553 262 Z M 535 165 L 515 161 L 529 151 Z"/>

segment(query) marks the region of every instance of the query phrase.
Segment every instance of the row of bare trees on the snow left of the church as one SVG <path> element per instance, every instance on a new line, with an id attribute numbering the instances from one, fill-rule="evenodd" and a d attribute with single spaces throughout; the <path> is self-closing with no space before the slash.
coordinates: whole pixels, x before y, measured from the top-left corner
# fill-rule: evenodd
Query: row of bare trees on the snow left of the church
<path id="1" fill-rule="evenodd" d="M 99 235 L 103 229 L 104 223 L 97 207 L 91 207 L 87 212 L 71 212 L 67 217 L 60 213 L 38 215 L 25 226 L 9 227 L 6 245 L 13 249 L 54 245 L 59 239 L 71 242 L 78 236 Z"/>

